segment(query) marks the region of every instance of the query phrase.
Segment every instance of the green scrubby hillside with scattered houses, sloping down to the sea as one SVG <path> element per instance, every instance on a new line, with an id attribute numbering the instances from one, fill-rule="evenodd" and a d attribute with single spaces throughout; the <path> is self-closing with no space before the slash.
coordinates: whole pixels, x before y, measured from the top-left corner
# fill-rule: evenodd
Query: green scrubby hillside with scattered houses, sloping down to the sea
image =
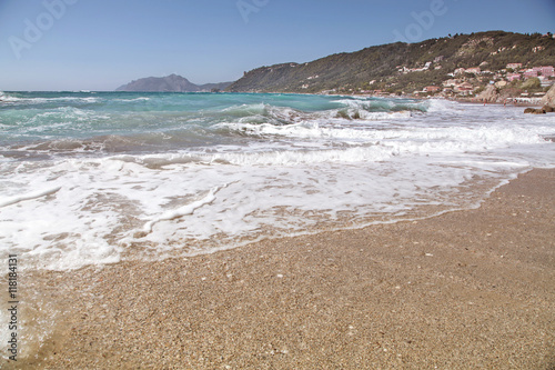
<path id="1" fill-rule="evenodd" d="M 339 53 L 307 63 L 261 67 L 228 88 L 234 92 L 386 91 L 412 93 L 441 86 L 456 69 L 498 71 L 508 63 L 523 68 L 555 64 L 552 34 L 488 31 L 455 34 L 418 43 L 389 43 Z M 485 79 L 486 77 L 484 77 Z M 494 77 L 487 78 L 487 82 Z M 487 83 L 476 81 L 475 84 Z"/>

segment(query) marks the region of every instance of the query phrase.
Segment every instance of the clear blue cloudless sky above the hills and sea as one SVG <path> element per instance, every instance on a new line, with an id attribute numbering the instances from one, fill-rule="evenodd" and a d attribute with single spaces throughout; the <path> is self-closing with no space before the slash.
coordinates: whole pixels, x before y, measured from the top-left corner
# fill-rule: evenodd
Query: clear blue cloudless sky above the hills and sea
<path id="1" fill-rule="evenodd" d="M 0 0 L 0 91 L 193 83 L 395 41 L 555 33 L 555 0 Z"/>

